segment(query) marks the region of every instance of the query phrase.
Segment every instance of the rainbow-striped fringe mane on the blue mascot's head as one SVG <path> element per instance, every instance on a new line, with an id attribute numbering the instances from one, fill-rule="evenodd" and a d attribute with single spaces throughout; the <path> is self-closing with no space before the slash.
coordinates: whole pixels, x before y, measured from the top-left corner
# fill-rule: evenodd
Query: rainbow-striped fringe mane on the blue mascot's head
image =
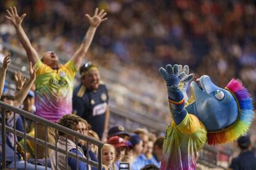
<path id="1" fill-rule="evenodd" d="M 252 119 L 254 119 L 254 106 L 252 105 L 252 98 L 247 88 L 236 79 L 232 79 L 227 87 L 235 98 L 239 110 L 236 121 L 218 132 L 208 132 L 208 144 L 216 145 L 221 143 L 231 142 L 236 140 L 241 135 L 245 134 L 250 127 Z"/>

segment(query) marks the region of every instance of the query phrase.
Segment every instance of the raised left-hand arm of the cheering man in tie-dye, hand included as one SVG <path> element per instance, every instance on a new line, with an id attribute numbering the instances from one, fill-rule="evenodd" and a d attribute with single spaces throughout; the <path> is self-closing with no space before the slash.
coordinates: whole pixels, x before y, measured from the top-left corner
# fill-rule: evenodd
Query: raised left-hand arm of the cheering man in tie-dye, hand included
<path id="1" fill-rule="evenodd" d="M 39 59 L 37 52 L 32 47 L 30 40 L 28 39 L 28 36 L 24 32 L 22 28 L 22 20 L 27 14 L 22 14 L 21 17 L 19 16 L 16 7 L 10 7 L 9 10 L 7 10 L 8 15 L 6 15 L 6 18 L 12 21 L 12 24 L 15 27 L 17 36 L 20 40 L 20 43 L 22 44 L 23 48 L 25 49 L 28 60 L 32 62 L 34 65 L 36 61 Z"/>

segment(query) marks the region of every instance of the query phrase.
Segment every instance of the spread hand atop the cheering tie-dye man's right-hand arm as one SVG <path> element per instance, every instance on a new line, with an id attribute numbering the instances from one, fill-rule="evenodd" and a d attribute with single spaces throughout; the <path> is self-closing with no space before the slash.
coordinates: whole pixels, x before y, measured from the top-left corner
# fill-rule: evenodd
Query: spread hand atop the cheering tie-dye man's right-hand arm
<path id="1" fill-rule="evenodd" d="M 91 17 L 89 14 L 86 14 L 85 16 L 88 18 L 90 25 L 92 27 L 98 27 L 100 25 L 101 22 L 107 20 L 108 18 L 104 18 L 106 16 L 106 12 L 104 11 L 104 9 L 102 9 L 99 13 L 98 13 L 98 7 L 95 9 L 94 15 L 93 17 Z"/>

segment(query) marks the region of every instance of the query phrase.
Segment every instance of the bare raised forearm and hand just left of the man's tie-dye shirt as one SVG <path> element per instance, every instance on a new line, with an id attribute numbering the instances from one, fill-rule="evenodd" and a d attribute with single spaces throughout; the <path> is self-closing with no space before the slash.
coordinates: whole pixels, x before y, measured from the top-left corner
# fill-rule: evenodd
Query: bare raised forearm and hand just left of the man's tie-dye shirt
<path id="1" fill-rule="evenodd" d="M 27 80 L 23 88 L 14 96 L 14 106 L 19 107 L 23 103 L 29 90 L 31 89 L 36 78 L 35 69 L 33 69 L 32 62 L 30 62 L 30 79 Z"/>

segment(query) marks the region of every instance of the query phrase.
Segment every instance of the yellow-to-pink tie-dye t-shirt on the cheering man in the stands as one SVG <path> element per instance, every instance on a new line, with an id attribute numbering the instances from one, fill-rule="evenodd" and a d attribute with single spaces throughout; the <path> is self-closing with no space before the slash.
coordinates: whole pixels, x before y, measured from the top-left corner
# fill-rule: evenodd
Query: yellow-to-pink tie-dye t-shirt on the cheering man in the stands
<path id="1" fill-rule="evenodd" d="M 65 114 L 72 113 L 75 64 L 70 60 L 57 70 L 38 60 L 35 69 L 35 114 L 58 122 Z"/>

